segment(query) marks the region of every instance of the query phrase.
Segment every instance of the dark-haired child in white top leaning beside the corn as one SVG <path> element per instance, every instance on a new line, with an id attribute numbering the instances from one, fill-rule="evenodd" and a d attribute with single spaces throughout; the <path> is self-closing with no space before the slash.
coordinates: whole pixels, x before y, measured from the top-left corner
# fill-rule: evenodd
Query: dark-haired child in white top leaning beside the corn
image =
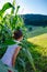
<path id="1" fill-rule="evenodd" d="M 19 43 L 23 39 L 22 31 L 21 30 L 14 31 L 13 38 L 14 41 Z M 21 47 L 19 47 L 17 44 L 9 45 L 1 61 L 9 66 L 15 66 L 15 60 L 20 52 L 20 49 Z"/>

